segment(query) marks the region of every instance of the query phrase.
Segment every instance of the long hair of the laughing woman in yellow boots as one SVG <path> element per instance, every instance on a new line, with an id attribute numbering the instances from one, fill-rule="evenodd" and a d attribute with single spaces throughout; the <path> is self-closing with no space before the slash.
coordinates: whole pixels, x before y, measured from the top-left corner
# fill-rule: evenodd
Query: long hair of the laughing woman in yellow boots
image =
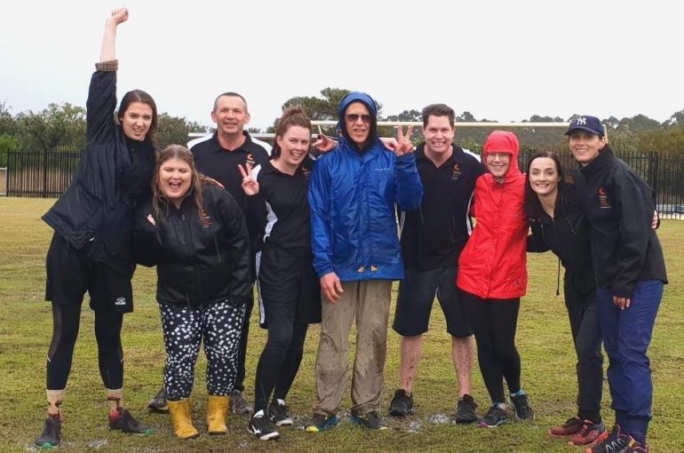
<path id="1" fill-rule="evenodd" d="M 159 169 L 163 163 L 171 159 L 179 159 L 190 167 L 192 178 L 190 179 L 190 190 L 193 191 L 195 205 L 200 214 L 200 219 L 204 217 L 204 200 L 202 191 L 204 188 L 204 177 L 195 170 L 193 155 L 187 147 L 182 145 L 169 145 L 163 148 L 156 157 L 155 175 L 152 178 L 152 215 L 155 219 L 164 219 L 168 212 L 169 199 L 164 195 L 162 187 L 159 186 Z"/>

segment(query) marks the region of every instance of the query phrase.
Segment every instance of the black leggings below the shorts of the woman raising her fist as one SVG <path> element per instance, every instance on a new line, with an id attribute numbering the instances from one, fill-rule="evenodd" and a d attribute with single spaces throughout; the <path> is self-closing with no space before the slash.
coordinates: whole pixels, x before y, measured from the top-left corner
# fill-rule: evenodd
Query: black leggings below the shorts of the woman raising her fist
<path id="1" fill-rule="evenodd" d="M 81 321 L 81 305 L 52 304 L 52 343 L 47 356 L 47 389 L 67 387 L 74 346 Z M 123 387 L 123 314 L 95 310 L 95 338 L 98 342 L 99 375 L 105 388 Z"/>

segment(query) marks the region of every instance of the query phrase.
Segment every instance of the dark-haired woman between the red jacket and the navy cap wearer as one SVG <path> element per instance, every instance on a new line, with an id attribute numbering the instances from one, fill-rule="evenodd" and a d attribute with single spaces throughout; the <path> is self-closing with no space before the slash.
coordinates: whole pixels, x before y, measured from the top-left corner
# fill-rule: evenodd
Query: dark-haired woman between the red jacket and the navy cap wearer
<path id="1" fill-rule="evenodd" d="M 563 294 L 577 354 L 577 415 L 548 433 L 568 436 L 572 445 L 586 445 L 606 430 L 600 417 L 603 355 L 589 225 L 557 155 L 533 155 L 526 179 L 525 213 L 532 230 L 528 251 L 552 250 L 565 268 Z"/>

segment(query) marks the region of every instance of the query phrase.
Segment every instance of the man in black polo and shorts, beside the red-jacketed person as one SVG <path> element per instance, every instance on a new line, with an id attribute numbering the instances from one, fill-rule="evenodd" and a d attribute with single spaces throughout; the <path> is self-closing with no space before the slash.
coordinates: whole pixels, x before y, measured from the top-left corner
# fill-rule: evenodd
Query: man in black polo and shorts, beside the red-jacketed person
<path id="1" fill-rule="evenodd" d="M 399 283 L 393 329 L 402 336 L 400 388 L 389 414 L 402 417 L 413 409 L 411 386 L 422 354 L 433 300 L 440 301 L 451 334 L 451 353 L 458 378 L 457 423 L 477 420 L 471 393 L 473 330 L 458 299 L 458 255 L 470 236 L 468 216 L 475 180 L 484 173 L 479 158 L 454 143 L 454 110 L 444 104 L 423 109 L 425 142 L 416 149 L 418 173 L 425 187 L 419 211 L 402 212 L 402 254 L 406 278 Z"/>

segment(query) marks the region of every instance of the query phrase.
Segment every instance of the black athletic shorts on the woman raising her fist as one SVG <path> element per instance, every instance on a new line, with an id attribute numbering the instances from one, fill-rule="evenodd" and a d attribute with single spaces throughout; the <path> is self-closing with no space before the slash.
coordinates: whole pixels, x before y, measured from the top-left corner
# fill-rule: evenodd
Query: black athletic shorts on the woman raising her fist
<path id="1" fill-rule="evenodd" d="M 117 258 L 93 261 L 87 256 L 88 248 L 86 244 L 76 250 L 60 234 L 52 235 L 45 261 L 45 300 L 62 306 L 80 306 L 88 291 L 93 310 L 132 312 L 131 278 L 135 265 Z"/>

